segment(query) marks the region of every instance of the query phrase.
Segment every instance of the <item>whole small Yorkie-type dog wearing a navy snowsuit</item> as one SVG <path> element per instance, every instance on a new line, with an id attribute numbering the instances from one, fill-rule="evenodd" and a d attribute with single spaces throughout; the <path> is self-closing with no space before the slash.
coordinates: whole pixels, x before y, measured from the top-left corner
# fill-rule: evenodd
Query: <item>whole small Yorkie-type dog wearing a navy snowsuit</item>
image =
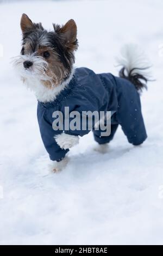
<path id="1" fill-rule="evenodd" d="M 95 74 L 87 68 L 74 69 L 74 52 L 78 48 L 77 26 L 69 20 L 64 26 L 53 24 L 54 31 L 46 31 L 41 23 L 33 23 L 26 14 L 21 17 L 22 50 L 14 64 L 22 81 L 34 91 L 37 101 L 37 119 L 42 141 L 54 161 L 53 170 L 63 169 L 68 150 L 79 143 L 79 136 L 90 130 L 55 131 L 53 113 L 70 115 L 76 111 L 111 111 L 111 133 L 101 136 L 95 129 L 93 135 L 99 151 L 105 152 L 121 125 L 129 143 L 142 144 L 147 138 L 141 113 L 139 92 L 149 80 L 149 64 L 145 54 L 136 45 L 122 48 L 117 62 L 122 66 L 120 77 Z M 100 122 L 99 122 L 100 123 Z"/>

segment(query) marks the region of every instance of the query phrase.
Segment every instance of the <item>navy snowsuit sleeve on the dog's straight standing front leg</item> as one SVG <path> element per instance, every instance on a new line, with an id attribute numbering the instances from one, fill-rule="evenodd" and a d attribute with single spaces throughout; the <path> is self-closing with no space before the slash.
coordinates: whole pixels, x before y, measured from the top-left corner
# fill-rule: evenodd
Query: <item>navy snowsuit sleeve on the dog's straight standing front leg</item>
<path id="1" fill-rule="evenodd" d="M 52 127 L 52 118 L 49 118 L 47 111 L 38 111 L 37 109 L 37 118 L 40 127 L 41 138 L 45 148 L 49 154 L 49 157 L 52 161 L 61 161 L 68 149 L 61 149 L 57 142 L 55 142 L 54 137 L 61 133 L 61 131 L 54 131 Z"/>

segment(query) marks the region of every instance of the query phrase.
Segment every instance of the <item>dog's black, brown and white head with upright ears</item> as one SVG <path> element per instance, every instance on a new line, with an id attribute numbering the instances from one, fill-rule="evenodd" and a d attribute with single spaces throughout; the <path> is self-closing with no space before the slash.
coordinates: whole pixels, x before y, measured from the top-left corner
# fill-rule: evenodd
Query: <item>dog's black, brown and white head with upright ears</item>
<path id="1" fill-rule="evenodd" d="M 33 23 L 26 14 L 22 15 L 22 50 L 15 66 L 23 81 L 39 80 L 51 88 L 70 77 L 78 48 L 76 23 L 69 20 L 63 26 L 53 27 L 54 31 L 48 32 L 41 23 Z"/>

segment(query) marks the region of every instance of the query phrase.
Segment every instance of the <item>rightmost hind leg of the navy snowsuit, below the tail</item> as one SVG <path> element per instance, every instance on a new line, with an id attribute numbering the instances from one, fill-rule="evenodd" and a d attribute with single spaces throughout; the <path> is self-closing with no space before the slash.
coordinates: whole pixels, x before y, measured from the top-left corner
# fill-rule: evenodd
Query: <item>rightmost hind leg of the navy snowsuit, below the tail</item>
<path id="1" fill-rule="evenodd" d="M 140 145 L 147 138 L 141 112 L 140 95 L 129 81 L 123 80 L 122 83 L 123 86 L 118 96 L 117 120 L 127 136 L 128 142 L 133 145 Z"/>

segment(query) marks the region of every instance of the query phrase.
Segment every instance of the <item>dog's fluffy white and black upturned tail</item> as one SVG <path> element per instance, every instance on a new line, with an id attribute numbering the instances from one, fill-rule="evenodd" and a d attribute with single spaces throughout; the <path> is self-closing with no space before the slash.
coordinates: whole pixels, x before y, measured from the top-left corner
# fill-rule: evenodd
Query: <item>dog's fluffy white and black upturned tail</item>
<path id="1" fill-rule="evenodd" d="M 147 82 L 151 80 L 151 64 L 145 52 L 135 44 L 126 44 L 121 48 L 120 57 L 116 58 L 117 65 L 122 66 L 119 76 L 126 78 L 141 92 L 147 89 Z"/>

